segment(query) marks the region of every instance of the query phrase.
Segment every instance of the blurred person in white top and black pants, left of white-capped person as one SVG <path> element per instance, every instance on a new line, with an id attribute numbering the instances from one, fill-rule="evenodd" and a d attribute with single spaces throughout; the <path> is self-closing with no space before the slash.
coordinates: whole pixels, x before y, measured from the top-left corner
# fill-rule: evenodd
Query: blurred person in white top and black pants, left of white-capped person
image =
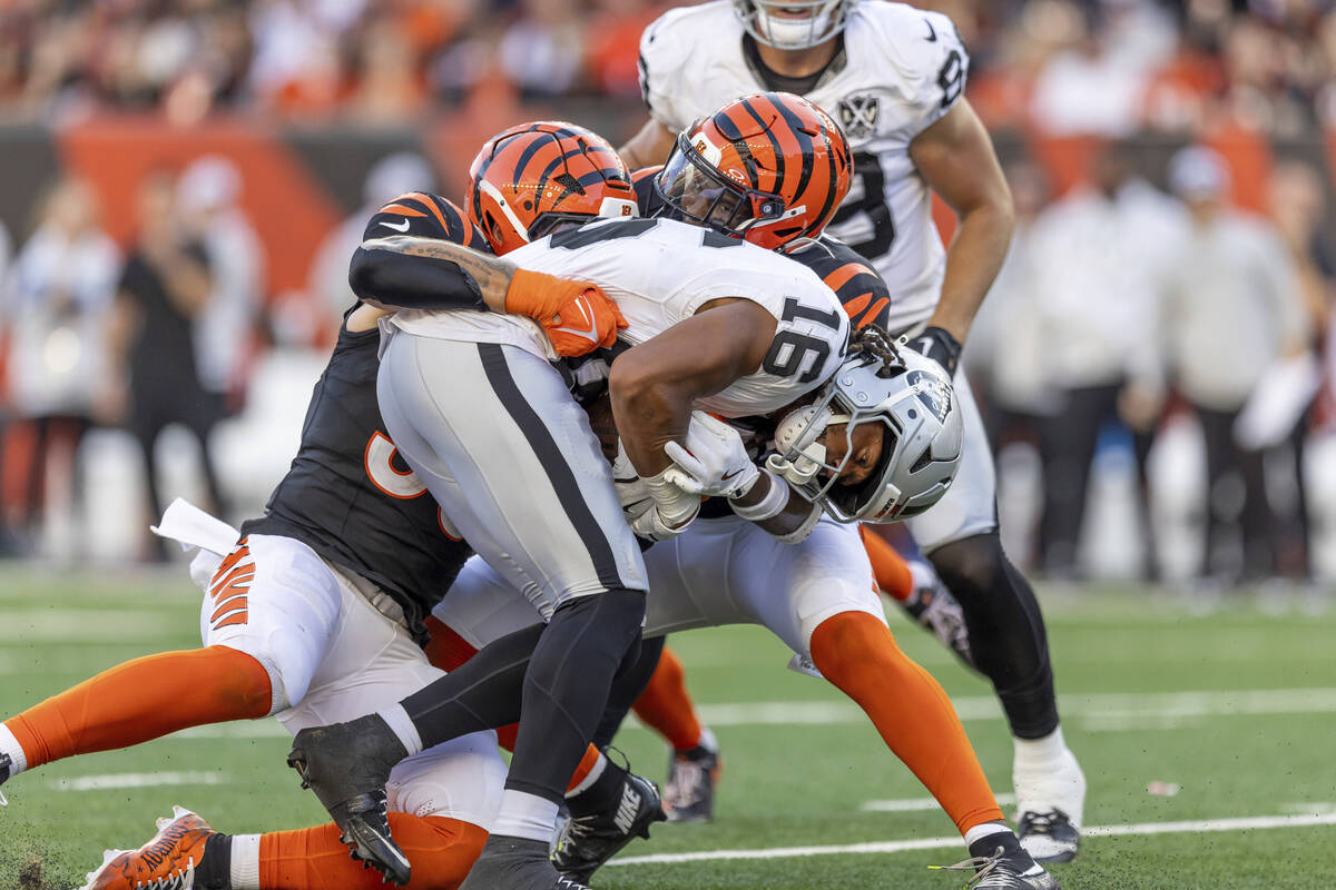
<path id="1" fill-rule="evenodd" d="M 1071 191 L 1035 221 L 1030 250 L 1035 343 L 1054 392 L 1039 428 L 1043 568 L 1077 574 L 1090 462 L 1100 432 L 1124 420 L 1133 432 L 1142 491 L 1146 572 L 1156 556 L 1145 496 L 1145 462 L 1156 411 L 1138 394 L 1154 370 L 1158 275 L 1182 221 L 1169 199 L 1132 173 L 1126 151 L 1097 152 L 1090 184 Z"/>

